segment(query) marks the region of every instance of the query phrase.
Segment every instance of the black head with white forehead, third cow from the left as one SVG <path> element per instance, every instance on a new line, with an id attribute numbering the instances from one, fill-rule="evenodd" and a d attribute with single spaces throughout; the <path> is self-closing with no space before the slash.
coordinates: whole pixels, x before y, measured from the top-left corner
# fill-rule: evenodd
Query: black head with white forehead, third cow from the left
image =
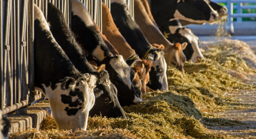
<path id="1" fill-rule="evenodd" d="M 134 71 L 127 65 L 121 55 L 104 59 L 106 70 L 109 72 L 110 81 L 116 86 L 118 100 L 121 106 L 130 106 L 141 103 L 140 98 L 133 88 L 132 80 Z"/>

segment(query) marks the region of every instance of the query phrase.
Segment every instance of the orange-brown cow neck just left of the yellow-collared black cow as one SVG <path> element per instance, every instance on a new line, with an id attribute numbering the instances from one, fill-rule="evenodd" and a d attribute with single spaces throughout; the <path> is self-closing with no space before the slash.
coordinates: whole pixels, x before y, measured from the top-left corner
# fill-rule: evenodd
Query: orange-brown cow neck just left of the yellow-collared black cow
<path id="1" fill-rule="evenodd" d="M 136 55 L 135 51 L 127 43 L 116 27 L 109 8 L 102 2 L 102 33 L 106 35 L 110 43 L 117 49 L 125 60 Z"/>

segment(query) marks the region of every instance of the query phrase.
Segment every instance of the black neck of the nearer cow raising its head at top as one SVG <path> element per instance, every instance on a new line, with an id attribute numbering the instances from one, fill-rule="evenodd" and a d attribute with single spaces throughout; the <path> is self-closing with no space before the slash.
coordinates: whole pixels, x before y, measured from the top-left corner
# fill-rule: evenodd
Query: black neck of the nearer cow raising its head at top
<path id="1" fill-rule="evenodd" d="M 152 15 L 158 26 L 174 19 L 177 1 L 179 0 L 151 0 Z"/>

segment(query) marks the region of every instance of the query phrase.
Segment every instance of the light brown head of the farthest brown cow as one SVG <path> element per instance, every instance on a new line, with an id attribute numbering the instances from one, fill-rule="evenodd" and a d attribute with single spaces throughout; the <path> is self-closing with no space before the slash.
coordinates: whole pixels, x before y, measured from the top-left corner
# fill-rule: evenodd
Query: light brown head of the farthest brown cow
<path id="1" fill-rule="evenodd" d="M 168 52 L 165 55 L 166 62 L 170 67 L 174 67 L 184 72 L 184 63 L 186 62 L 186 56 L 183 51 L 187 46 L 187 43 L 183 44 L 175 43 L 172 47 L 169 47 L 165 51 Z"/>

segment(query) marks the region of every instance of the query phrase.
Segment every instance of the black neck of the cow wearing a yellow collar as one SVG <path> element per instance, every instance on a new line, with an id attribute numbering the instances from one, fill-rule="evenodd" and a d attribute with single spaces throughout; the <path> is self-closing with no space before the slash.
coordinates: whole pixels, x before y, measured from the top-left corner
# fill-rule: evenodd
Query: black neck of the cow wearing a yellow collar
<path id="1" fill-rule="evenodd" d="M 143 60 L 147 58 L 152 49 L 148 40 L 141 32 L 139 26 L 132 20 L 126 5 L 117 2 L 111 3 L 111 15 L 120 33 L 128 44 L 135 50 L 136 54 Z"/>

